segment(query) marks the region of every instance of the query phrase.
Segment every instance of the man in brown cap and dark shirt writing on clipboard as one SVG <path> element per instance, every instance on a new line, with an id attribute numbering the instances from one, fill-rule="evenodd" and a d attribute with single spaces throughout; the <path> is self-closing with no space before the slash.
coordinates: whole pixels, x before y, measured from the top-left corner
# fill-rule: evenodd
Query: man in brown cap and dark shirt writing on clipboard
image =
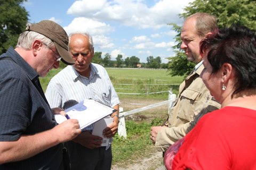
<path id="1" fill-rule="evenodd" d="M 59 125 L 38 77 L 73 64 L 68 36 L 49 20 L 29 24 L 15 49 L 0 56 L 0 169 L 63 169 L 62 145 L 81 133 L 77 120 Z M 63 112 L 63 111 L 62 111 Z"/>

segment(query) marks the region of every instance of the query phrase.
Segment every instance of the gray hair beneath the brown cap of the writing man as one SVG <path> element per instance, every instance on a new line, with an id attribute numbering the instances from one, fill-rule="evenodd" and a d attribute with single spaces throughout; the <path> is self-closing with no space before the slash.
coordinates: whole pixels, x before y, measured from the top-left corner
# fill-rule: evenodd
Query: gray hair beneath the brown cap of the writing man
<path id="1" fill-rule="evenodd" d="M 30 25 L 30 23 L 28 23 Z M 45 37 L 41 33 L 35 31 L 24 31 L 20 34 L 16 48 L 20 47 L 26 50 L 31 49 L 31 45 L 35 39 L 39 39 L 47 47 L 54 47 L 54 43 L 50 38 Z"/>

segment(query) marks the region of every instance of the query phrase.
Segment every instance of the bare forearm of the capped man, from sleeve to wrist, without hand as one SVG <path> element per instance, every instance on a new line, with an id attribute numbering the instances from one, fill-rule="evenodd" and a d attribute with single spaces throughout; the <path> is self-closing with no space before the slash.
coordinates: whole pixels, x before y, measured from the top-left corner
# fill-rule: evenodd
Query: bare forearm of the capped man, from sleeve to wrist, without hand
<path id="1" fill-rule="evenodd" d="M 58 135 L 54 135 L 52 130 L 23 135 L 17 141 L 0 142 L 0 164 L 27 159 L 58 143 Z"/>

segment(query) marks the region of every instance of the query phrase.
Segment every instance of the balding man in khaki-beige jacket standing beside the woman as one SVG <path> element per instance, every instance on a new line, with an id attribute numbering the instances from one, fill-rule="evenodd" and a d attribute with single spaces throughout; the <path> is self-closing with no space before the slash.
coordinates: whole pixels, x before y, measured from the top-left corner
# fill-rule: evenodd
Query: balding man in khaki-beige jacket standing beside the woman
<path id="1" fill-rule="evenodd" d="M 187 60 L 197 65 L 180 84 L 179 95 L 163 126 L 153 126 L 150 139 L 158 151 L 166 151 L 184 137 L 204 114 L 220 108 L 199 77 L 204 66 L 199 43 L 206 35 L 217 30 L 217 18 L 207 13 L 195 13 L 186 18 L 181 30 L 181 49 Z"/>

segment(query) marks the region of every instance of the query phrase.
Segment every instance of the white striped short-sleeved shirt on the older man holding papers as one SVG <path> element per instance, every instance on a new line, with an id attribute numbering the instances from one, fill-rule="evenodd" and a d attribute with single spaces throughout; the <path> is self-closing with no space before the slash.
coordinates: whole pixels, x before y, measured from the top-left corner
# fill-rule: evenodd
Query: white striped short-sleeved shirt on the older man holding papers
<path id="1" fill-rule="evenodd" d="M 90 98 L 110 107 L 119 104 L 119 98 L 106 69 L 94 63 L 91 63 L 90 67 L 89 78 L 83 77 L 74 66 L 69 65 L 51 79 L 45 92 L 51 108 L 67 109 Z M 85 130 L 92 131 L 92 129 L 93 124 Z"/>

